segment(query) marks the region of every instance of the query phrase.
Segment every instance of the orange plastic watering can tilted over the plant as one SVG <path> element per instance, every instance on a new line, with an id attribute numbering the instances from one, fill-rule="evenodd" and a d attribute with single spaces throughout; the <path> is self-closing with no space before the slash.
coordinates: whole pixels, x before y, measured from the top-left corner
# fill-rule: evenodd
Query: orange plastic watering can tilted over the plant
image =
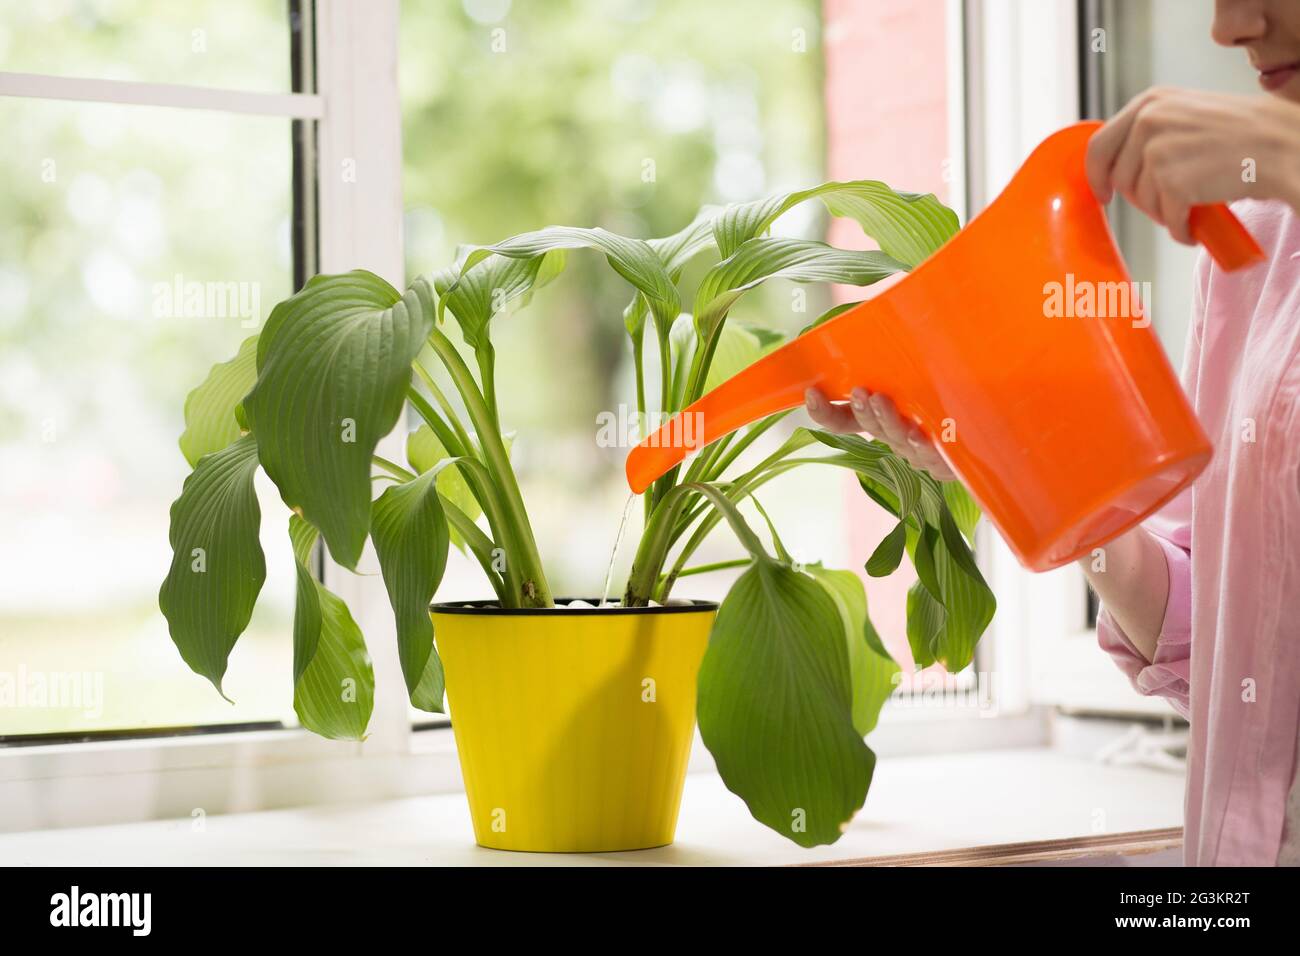
<path id="1" fill-rule="evenodd" d="M 1088 187 L 1098 127 L 1048 137 L 910 276 L 690 405 L 681 414 L 696 428 L 670 421 L 646 438 L 628 457 L 632 490 L 802 405 L 809 388 L 841 401 L 862 386 L 936 438 L 1032 571 L 1088 554 L 1173 498 L 1212 449 Z M 1225 269 L 1264 258 L 1223 206 L 1196 207 L 1190 226 Z"/>

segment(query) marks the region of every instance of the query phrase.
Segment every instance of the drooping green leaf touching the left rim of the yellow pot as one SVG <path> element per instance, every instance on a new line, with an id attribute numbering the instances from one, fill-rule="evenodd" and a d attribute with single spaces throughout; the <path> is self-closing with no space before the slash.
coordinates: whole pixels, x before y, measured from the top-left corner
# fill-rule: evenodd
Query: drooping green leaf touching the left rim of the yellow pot
<path id="1" fill-rule="evenodd" d="M 450 468 L 442 468 L 450 471 Z M 398 657 L 411 704 L 442 713 L 442 662 L 433 648 L 429 602 L 447 567 L 447 518 L 438 471 L 389 488 L 374 502 L 370 537 L 398 630 Z"/>

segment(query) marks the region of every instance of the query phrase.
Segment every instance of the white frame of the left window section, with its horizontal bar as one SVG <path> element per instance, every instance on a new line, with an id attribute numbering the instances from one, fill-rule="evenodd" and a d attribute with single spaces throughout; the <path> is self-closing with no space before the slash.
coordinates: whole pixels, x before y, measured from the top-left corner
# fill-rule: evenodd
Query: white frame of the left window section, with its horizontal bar
<path id="1" fill-rule="evenodd" d="M 313 21 L 315 94 L 0 73 L 0 96 L 316 121 L 318 269 L 365 268 L 402 287 L 398 0 L 329 0 Z M 400 458 L 400 449 L 393 434 L 380 454 Z M 380 579 L 328 566 L 325 581 L 348 602 L 374 661 L 380 693 L 364 743 L 282 730 L 0 748 L 0 831 L 460 790 L 450 734 L 421 734 L 413 752 Z"/>

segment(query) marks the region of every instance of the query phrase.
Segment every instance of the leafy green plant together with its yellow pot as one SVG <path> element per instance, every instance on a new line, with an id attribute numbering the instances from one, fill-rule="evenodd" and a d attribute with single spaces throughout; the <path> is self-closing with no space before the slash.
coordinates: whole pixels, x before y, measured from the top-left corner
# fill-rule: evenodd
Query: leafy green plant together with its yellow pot
<path id="1" fill-rule="evenodd" d="M 880 251 L 768 234 L 814 198 L 859 222 Z M 857 574 L 797 563 L 755 493 L 803 466 L 854 472 L 897 519 L 866 571 L 888 575 L 910 558 L 919 579 L 907 594 L 914 661 L 950 671 L 971 661 L 994 607 L 971 551 L 976 506 L 958 483 L 855 436 L 794 428 L 749 460 L 744 453 L 784 418 L 774 415 L 646 492 L 620 602 L 556 607 L 502 433 L 491 320 L 556 278 L 569 251 L 597 251 L 632 287 L 623 320 L 637 410 L 642 421 L 662 421 L 779 345 L 775 333 L 728 323 L 745 291 L 770 278 L 866 286 L 915 267 L 957 228 L 933 195 L 829 182 L 710 207 L 658 239 L 567 226 L 516 235 L 463 250 L 404 293 L 367 272 L 312 278 L 186 402 L 181 447 L 194 472 L 172 506 L 173 562 L 160 593 L 173 641 L 221 692 L 265 575 L 254 494 L 261 468 L 291 512 L 299 719 L 328 737 L 365 734 L 374 679 L 364 639 L 308 567 L 320 538 L 355 570 L 369 537 L 412 704 L 441 711 L 446 683 L 484 845 L 670 842 L 697 715 L 719 774 L 757 819 L 805 847 L 836 840 L 866 799 L 875 756 L 863 737 L 900 669 L 872 628 Z M 716 263 L 685 313 L 682 269 L 706 255 Z M 448 337 L 448 319 L 464 349 Z M 654 392 L 647 347 L 659 356 Z M 434 363 L 456 402 L 430 373 Z M 400 464 L 374 450 L 407 406 L 422 424 Z M 757 506 L 768 542 L 742 502 Z M 744 572 L 720 607 L 670 604 L 681 578 L 716 567 L 690 561 L 719 523 L 740 545 L 725 564 Z M 477 559 L 494 598 L 433 605 L 430 617 L 452 545 Z"/>

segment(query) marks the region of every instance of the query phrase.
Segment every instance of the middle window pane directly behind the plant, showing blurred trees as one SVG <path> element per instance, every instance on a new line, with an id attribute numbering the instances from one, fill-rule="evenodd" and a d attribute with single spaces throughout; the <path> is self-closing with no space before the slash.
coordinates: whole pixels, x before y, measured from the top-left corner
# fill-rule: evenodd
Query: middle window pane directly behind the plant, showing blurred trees
<path id="1" fill-rule="evenodd" d="M 706 203 L 820 182 L 820 9 L 819 0 L 770 4 L 760 16 L 741 0 L 403 3 L 408 274 L 450 264 L 459 243 L 551 224 L 666 235 Z M 824 237 L 819 208 L 800 207 L 777 232 Z M 806 298 L 772 282 L 734 317 L 797 332 L 831 304 L 824 287 L 801 290 Z M 494 324 L 503 425 L 516 432 L 514 458 L 556 594 L 601 589 L 628 498 L 627 449 L 597 445 L 599 412 L 636 411 L 628 299 L 599 256 L 573 252 L 558 282 Z M 649 355 L 656 382 L 653 363 Z M 807 507 L 814 497 L 818 507 Z M 763 497 L 792 548 L 850 567 L 842 501 L 838 475 L 811 471 Z M 615 589 L 640 523 L 634 509 Z M 723 532 L 698 559 L 736 554 Z M 728 580 L 690 578 L 675 594 L 720 597 Z M 439 598 L 490 593 L 477 566 L 454 554 Z"/>

